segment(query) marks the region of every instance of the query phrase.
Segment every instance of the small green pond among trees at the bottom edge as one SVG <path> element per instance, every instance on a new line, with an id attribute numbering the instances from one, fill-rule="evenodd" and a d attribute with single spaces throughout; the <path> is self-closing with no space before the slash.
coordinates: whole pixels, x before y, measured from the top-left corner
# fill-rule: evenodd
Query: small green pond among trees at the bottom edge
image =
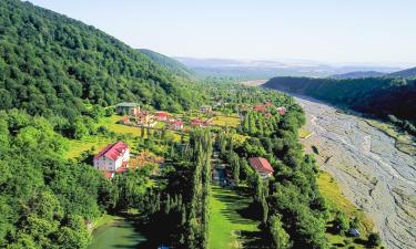
<path id="1" fill-rule="evenodd" d="M 122 217 L 114 217 L 113 221 L 97 228 L 92 236 L 88 249 L 138 248 L 146 240 L 130 221 Z"/>

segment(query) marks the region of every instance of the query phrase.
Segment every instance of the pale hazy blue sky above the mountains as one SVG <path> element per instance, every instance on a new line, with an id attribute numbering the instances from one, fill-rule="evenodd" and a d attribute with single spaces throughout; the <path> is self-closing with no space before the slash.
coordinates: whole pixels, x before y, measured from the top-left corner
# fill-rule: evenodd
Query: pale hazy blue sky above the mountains
<path id="1" fill-rule="evenodd" d="M 416 0 L 30 0 L 168 55 L 416 64 Z"/>

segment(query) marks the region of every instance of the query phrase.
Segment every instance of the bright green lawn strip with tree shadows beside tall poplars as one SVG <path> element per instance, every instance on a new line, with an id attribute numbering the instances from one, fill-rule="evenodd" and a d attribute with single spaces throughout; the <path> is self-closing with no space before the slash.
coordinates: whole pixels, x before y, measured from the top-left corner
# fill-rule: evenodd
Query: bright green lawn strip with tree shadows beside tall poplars
<path id="1" fill-rule="evenodd" d="M 253 243 L 256 234 L 260 232 L 257 228 L 260 221 L 244 216 L 243 210 L 250 203 L 248 197 L 242 197 L 233 190 L 212 186 L 210 196 L 210 249 L 243 248 L 244 245 Z"/>

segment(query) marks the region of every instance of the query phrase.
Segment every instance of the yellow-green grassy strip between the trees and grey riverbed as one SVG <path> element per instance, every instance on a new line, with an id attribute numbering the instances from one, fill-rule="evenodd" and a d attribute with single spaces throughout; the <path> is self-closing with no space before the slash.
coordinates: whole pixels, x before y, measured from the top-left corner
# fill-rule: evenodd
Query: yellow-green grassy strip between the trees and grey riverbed
<path id="1" fill-rule="evenodd" d="M 345 215 L 347 215 L 347 217 L 355 217 L 355 216 L 358 217 L 358 219 L 362 222 L 362 226 L 358 227 L 358 230 L 362 234 L 361 239 L 366 240 L 366 237 L 373 230 L 373 226 L 374 226 L 373 221 L 368 217 L 366 217 L 366 215 L 362 210 L 358 210 L 342 194 L 339 186 L 328 173 L 322 172 L 317 179 L 317 184 L 319 186 L 321 194 L 325 197 L 329 207 L 342 210 L 343 212 L 345 212 Z M 326 235 L 331 245 L 348 243 L 348 246 L 354 246 L 355 248 L 365 248 L 365 246 L 362 242 L 361 243 L 355 242 L 354 238 L 348 238 L 346 236 L 341 236 L 341 235 L 333 235 L 331 232 L 327 232 Z"/>

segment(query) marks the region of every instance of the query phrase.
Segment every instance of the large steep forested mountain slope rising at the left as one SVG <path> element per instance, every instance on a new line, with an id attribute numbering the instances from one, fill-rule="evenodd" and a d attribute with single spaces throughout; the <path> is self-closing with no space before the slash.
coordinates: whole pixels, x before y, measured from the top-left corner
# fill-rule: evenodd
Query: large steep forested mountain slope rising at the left
<path id="1" fill-rule="evenodd" d="M 197 102 L 163 66 L 104 32 L 18 0 L 0 1 L 0 110 L 68 120 L 84 102 L 162 110 Z"/>

